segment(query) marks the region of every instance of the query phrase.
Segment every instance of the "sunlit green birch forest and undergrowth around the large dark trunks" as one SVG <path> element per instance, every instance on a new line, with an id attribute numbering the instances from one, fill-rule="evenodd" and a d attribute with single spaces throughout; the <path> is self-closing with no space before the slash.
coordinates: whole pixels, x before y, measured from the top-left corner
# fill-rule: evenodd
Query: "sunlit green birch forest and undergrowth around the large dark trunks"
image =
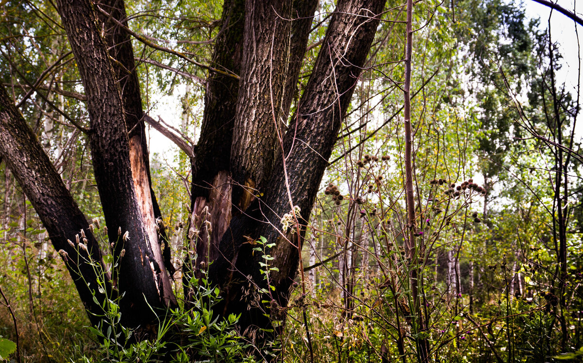
<path id="1" fill-rule="evenodd" d="M 294 3 L 301 8 L 303 1 Z M 415 210 L 415 228 L 405 198 L 408 8 L 392 0 L 384 5 L 301 234 L 299 212 L 289 211 L 289 204 L 289 213 L 278 215 L 272 226 L 293 235 L 297 225 L 303 240 L 287 305 L 265 298 L 280 289 L 271 276 L 281 266 L 272 262 L 278 259 L 271 252 L 274 242 L 261 234 L 244 244 L 261 258 L 250 261 L 265 282 L 258 287 L 263 297 L 257 304 L 267 307 L 269 339 L 255 340 L 250 330 L 239 329 L 245 311 L 220 315 L 228 294 L 215 287 L 204 265 L 190 272 L 185 266 L 196 254 L 188 243 L 194 223 L 192 150 L 205 137 L 205 92 L 218 72 L 213 49 L 226 34 L 223 6 L 220 1 L 125 1 L 142 105 L 151 116 L 147 139 L 177 150 L 149 155 L 161 212 L 156 228 L 165 226 L 161 251 L 170 257 L 172 267 L 166 269 L 176 303 L 158 314 L 147 332 L 139 329 L 143 325 L 122 326 L 123 296 L 106 299 L 101 323 L 90 321 L 67 271 L 71 252 L 59 255 L 51 245 L 0 149 L 0 359 L 583 360 L 580 82 L 571 88 L 557 77 L 565 64 L 553 29 L 550 22 L 541 26 L 547 19 L 527 19 L 528 3 L 414 3 L 409 207 Z M 52 1 L 0 1 L 0 81 L 92 223 L 89 229 L 104 251 L 104 263 L 92 266 L 97 276 L 107 276 L 126 251 L 107 252 L 110 243 L 114 250 L 111 231 L 117 233 L 117 227 L 107 223 L 110 233 L 104 230 L 84 75 L 58 7 Z M 334 2 L 319 1 L 308 24 L 289 116 L 282 121 L 285 130 L 297 127 L 300 96 L 309 90 L 335 8 Z M 552 13 L 573 22 L 576 31 L 581 19 L 572 15 Z M 162 105 L 168 99 L 169 106 Z M 174 114 L 180 119 L 160 113 L 169 107 L 178 108 Z M 24 168 L 29 163 L 22 160 Z M 288 166 L 290 175 L 311 172 Z M 415 233 L 413 248 L 409 230 Z M 123 232 L 120 228 L 117 241 L 134 239 Z M 73 235 L 67 238 L 79 251 L 79 236 L 76 242 Z"/>

